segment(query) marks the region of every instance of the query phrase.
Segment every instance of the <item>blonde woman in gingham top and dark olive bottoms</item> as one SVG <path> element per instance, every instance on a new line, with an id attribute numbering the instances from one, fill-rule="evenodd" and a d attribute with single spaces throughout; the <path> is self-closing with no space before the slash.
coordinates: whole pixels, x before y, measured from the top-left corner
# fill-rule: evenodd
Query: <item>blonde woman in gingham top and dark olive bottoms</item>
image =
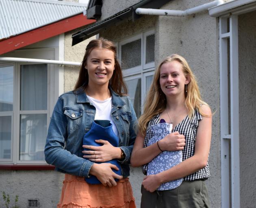
<path id="1" fill-rule="evenodd" d="M 172 124 L 171 133 L 148 145 L 154 137 L 151 126 L 162 119 Z M 187 61 L 177 54 L 165 58 L 156 69 L 131 156 L 131 165 L 143 166 L 147 175 L 141 187 L 142 208 L 209 207 L 204 180 L 210 177 L 211 123 L 210 107 L 202 101 Z M 178 150 L 182 150 L 181 163 L 157 174 L 147 174 L 148 163 L 159 154 Z M 161 160 L 164 163 L 165 159 Z M 180 178 L 183 181 L 177 188 L 159 191 L 161 184 Z"/>

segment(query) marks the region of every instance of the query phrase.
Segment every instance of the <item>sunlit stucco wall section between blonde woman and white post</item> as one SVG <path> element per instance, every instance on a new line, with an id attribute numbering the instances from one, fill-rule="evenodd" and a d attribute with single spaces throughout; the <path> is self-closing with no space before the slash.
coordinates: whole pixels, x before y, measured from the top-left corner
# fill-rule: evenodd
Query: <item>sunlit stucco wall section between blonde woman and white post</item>
<path id="1" fill-rule="evenodd" d="M 163 8 L 185 10 L 210 1 L 173 1 Z M 163 9 L 161 8 L 161 9 Z M 208 12 L 188 17 L 159 17 L 156 30 L 158 60 L 177 53 L 186 58 L 197 78 L 202 98 L 213 115 L 209 167 L 211 177 L 206 181 L 210 204 L 221 207 L 220 136 L 219 136 L 219 69 L 217 22 Z"/>

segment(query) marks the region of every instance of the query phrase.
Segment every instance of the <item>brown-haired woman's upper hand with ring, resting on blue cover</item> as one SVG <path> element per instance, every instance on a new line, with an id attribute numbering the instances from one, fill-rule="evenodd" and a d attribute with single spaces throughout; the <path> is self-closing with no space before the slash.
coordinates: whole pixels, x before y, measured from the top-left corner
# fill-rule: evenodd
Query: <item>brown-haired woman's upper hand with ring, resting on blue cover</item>
<path id="1" fill-rule="evenodd" d="M 103 139 L 97 139 L 95 142 L 102 143 L 103 145 L 82 145 L 83 148 L 90 149 L 82 151 L 83 154 L 87 154 L 83 158 L 87 158 L 92 162 L 106 162 L 121 158 L 121 149 L 119 147 L 114 147 L 111 143 Z"/>

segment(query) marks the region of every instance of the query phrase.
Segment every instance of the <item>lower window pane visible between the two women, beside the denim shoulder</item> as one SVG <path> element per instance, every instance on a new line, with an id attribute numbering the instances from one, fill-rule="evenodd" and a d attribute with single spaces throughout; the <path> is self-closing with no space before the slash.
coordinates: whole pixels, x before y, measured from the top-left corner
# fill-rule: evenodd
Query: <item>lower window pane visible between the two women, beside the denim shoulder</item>
<path id="1" fill-rule="evenodd" d="M 139 118 L 141 116 L 141 78 L 128 80 L 126 85 L 135 113 Z"/>

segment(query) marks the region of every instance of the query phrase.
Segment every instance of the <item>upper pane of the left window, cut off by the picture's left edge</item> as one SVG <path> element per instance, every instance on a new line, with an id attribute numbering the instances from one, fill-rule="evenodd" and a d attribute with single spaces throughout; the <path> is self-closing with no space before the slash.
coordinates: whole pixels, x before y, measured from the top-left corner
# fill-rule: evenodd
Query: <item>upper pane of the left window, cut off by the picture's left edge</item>
<path id="1" fill-rule="evenodd" d="M 13 66 L 0 67 L 0 111 L 13 111 Z"/>

